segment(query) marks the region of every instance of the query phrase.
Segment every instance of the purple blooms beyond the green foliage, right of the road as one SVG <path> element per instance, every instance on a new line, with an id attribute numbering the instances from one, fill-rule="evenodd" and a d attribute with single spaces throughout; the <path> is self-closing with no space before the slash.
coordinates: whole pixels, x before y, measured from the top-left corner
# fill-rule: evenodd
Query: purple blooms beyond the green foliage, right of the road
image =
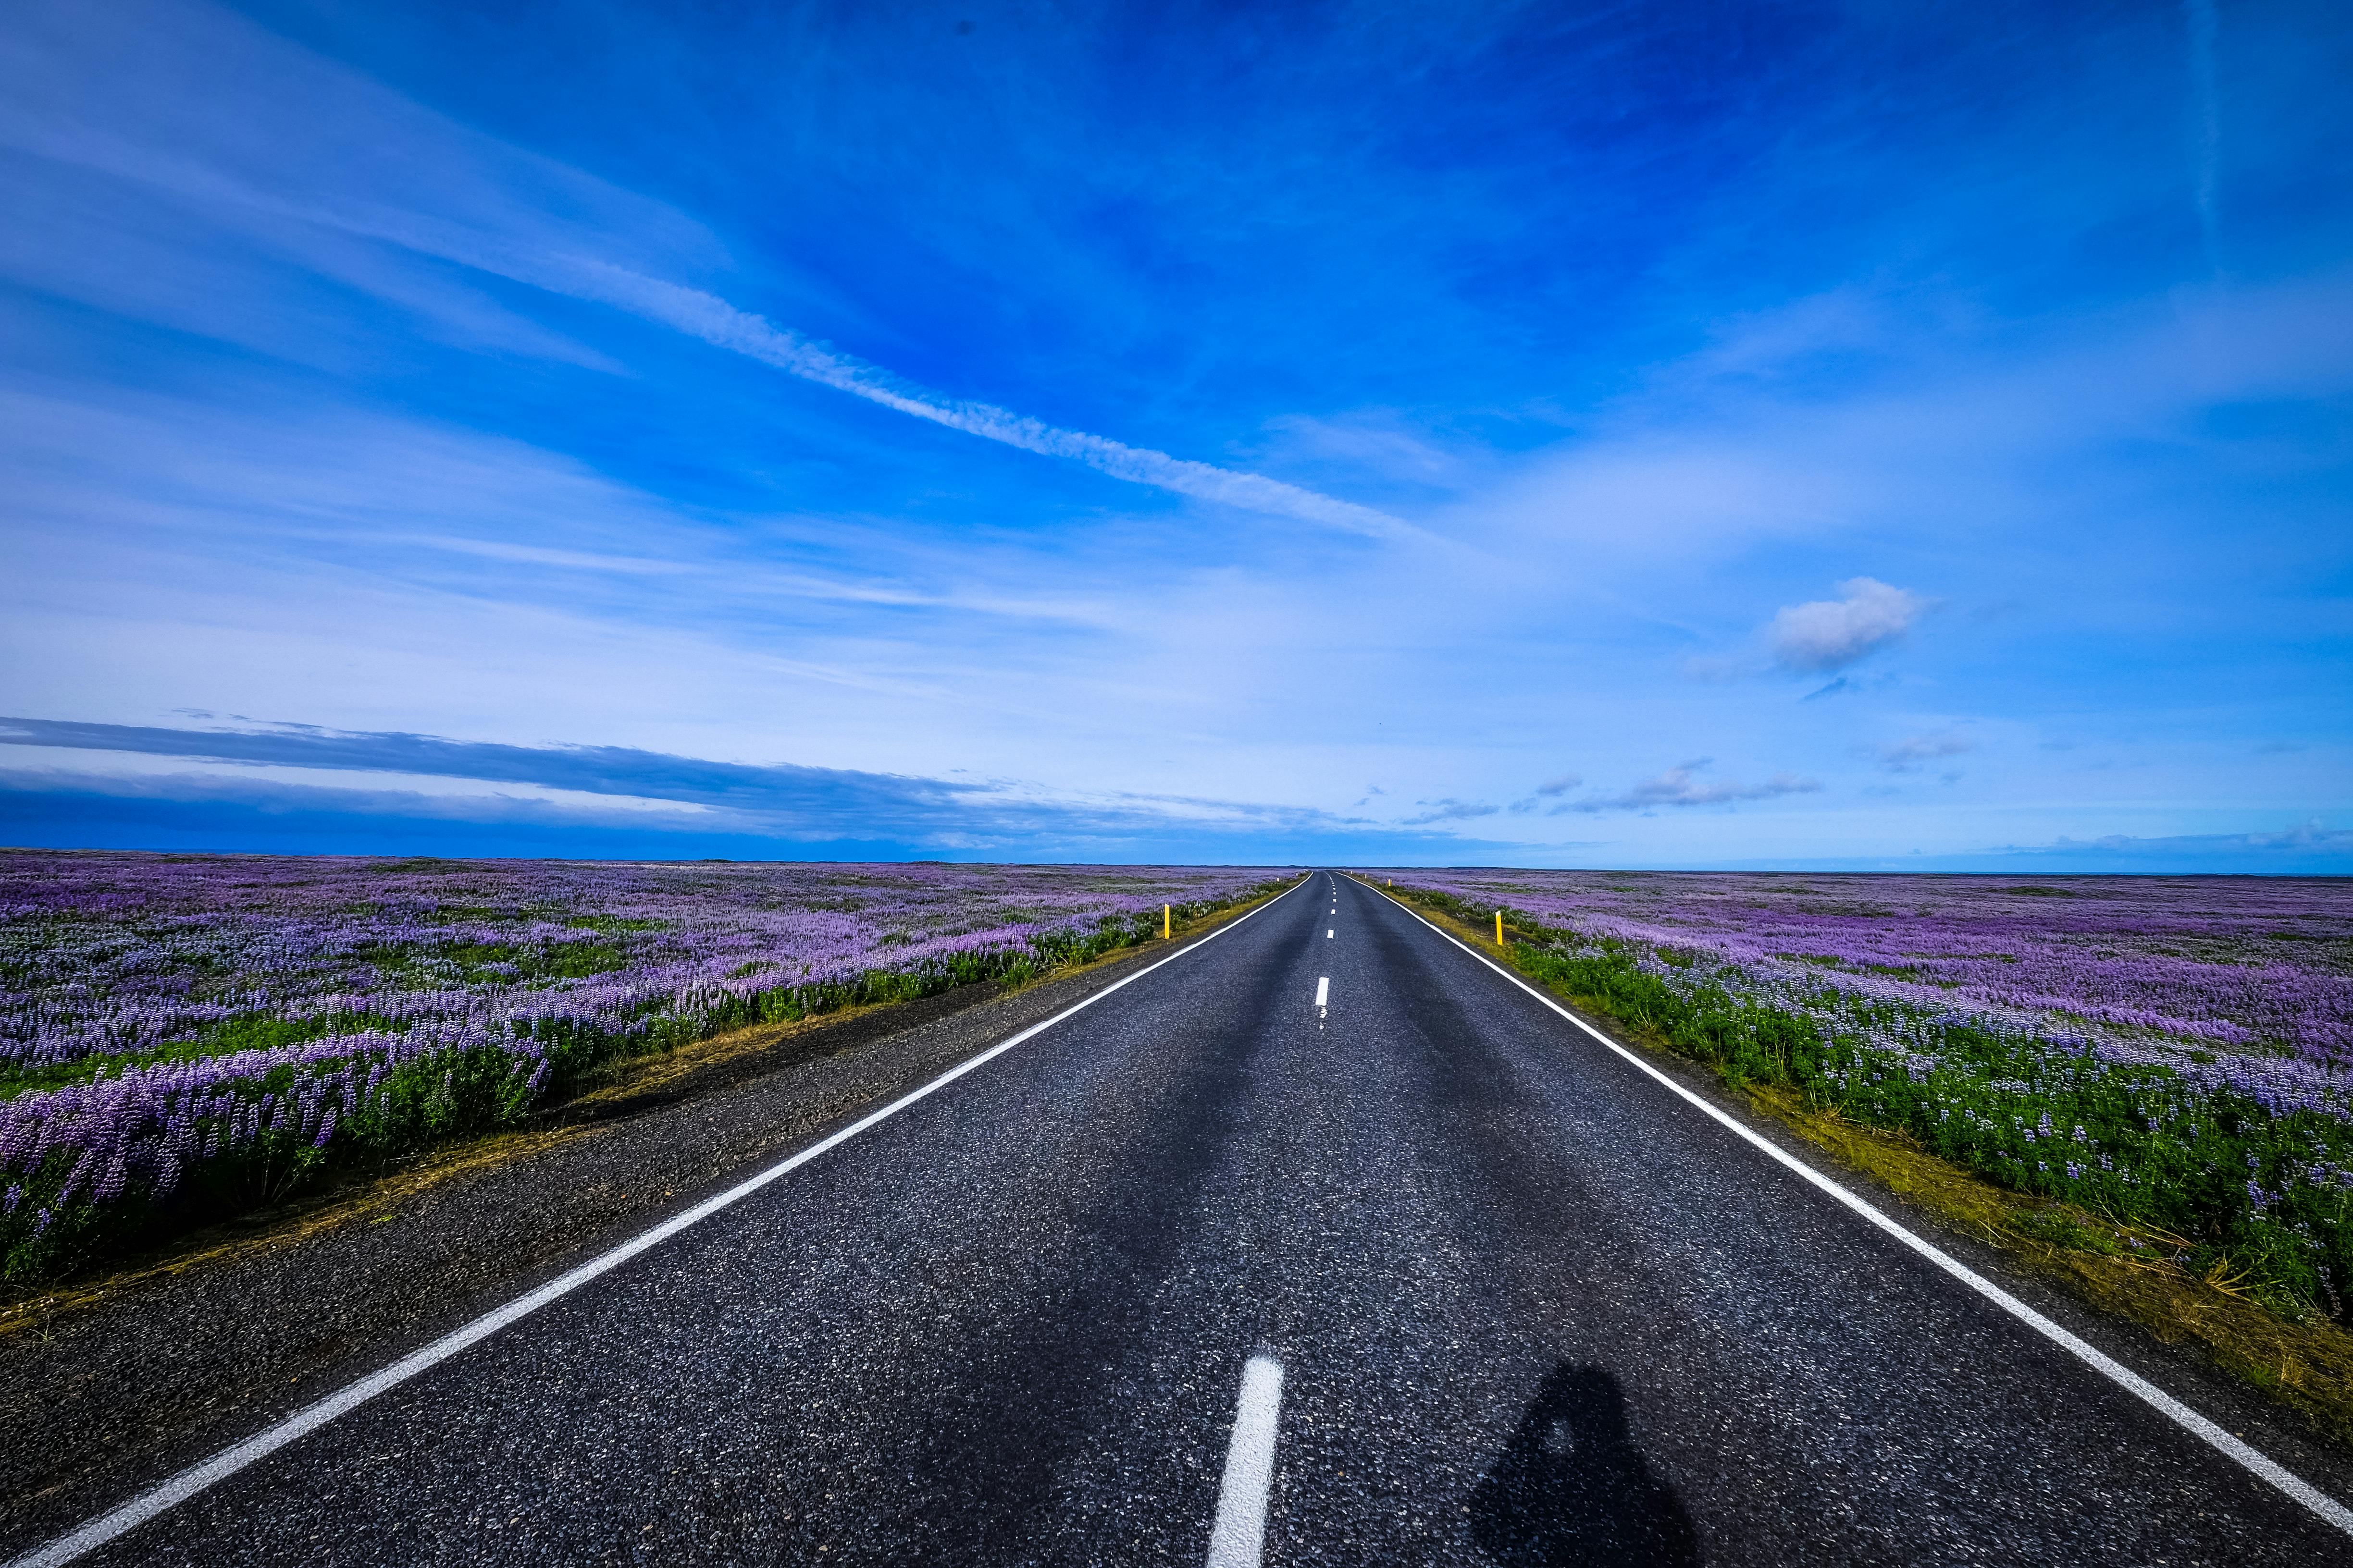
<path id="1" fill-rule="evenodd" d="M 2353 1067 L 2344 877 L 1409 872 L 1492 924 L 1687 952 L 1755 976 L 1965 1009 L 2165 1065 L 2245 1058 L 2275 1098 Z"/>

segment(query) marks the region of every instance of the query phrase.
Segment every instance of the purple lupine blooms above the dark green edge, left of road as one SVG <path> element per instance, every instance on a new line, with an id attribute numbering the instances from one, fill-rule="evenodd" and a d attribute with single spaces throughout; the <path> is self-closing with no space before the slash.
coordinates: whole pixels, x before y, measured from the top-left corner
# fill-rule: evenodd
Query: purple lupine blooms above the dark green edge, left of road
<path id="1" fill-rule="evenodd" d="M 442 1051 L 501 1051 L 536 1098 L 544 1039 L 671 1039 L 779 983 L 807 999 L 878 969 L 946 976 L 1261 882 L 1247 867 L 579 863 L 475 863 L 452 879 L 362 858 L 5 851 L 0 943 L 33 978 L 0 990 L 0 1070 L 89 1063 L 94 1081 L 0 1098 L 0 1168 L 66 1150 L 66 1197 L 162 1192 L 268 1131 L 332 1140 L 393 1072 Z M 513 957 L 461 961 L 487 950 Z M 271 1030 L 235 1034 L 254 1023 Z M 228 1030 L 212 1056 L 136 1060 L 207 1030 Z M 264 1091 L 271 1074 L 292 1081 Z"/>

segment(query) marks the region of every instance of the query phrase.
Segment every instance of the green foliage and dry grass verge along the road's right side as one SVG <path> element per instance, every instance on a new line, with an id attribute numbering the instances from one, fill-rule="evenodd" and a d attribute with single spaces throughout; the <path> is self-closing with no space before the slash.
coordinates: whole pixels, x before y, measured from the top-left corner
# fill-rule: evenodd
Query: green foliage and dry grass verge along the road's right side
<path id="1" fill-rule="evenodd" d="M 1487 940 L 1492 907 L 1405 879 L 1388 891 L 1497 952 Z M 2313 1269 L 2306 1281 L 2320 1284 L 2318 1269 L 2334 1265 L 2306 1244 L 2344 1246 L 2341 1222 L 2329 1225 L 2341 1208 L 2322 1206 L 2318 1225 L 2306 1215 L 2306 1229 L 2257 1229 L 2247 1246 L 2242 1227 L 2287 1220 L 2235 1185 L 2249 1152 L 2294 1164 L 2299 1138 L 2341 1147 L 2339 1119 L 2308 1110 L 2278 1117 L 2146 1063 L 2115 1070 L 2061 1051 L 2045 1065 L 2012 1034 L 1948 1016 L 1927 1020 L 1932 1039 L 1915 1032 L 1889 1048 L 1842 1027 L 1849 1013 L 1835 999 L 1805 1006 L 1798 997 L 1791 1006 L 1786 992 L 1744 987 L 1689 954 L 1593 940 L 1520 912 L 1506 917 L 1506 936 L 1499 957 L 1553 994 L 1642 1044 L 1706 1063 L 1760 1112 L 1901 1197 L 2162 1340 L 2200 1345 L 2353 1443 L 2353 1333 L 2327 1312 L 2341 1295 L 2299 1295 L 2297 1276 L 2278 1267 L 2280 1258 L 2301 1260 Z M 1941 1048 L 1929 1056 L 1925 1044 Z M 2104 1070 L 2115 1079 L 2101 1084 Z M 1972 1114 L 1948 1114 L 1955 1107 Z M 2085 1126 L 2082 1143 L 2075 1126 Z M 2066 1152 L 2057 1171 L 2054 1143 Z M 2292 1150 L 2285 1157 L 2282 1143 Z M 2085 1145 L 2106 1152 L 2101 1175 L 2113 1185 L 2085 1180 Z M 2308 1150 L 2306 1161 L 2315 1159 Z M 2120 1175 L 2132 1180 L 2113 1180 Z M 2268 1276 L 2254 1272 L 2264 1260 L 2275 1269 Z"/>

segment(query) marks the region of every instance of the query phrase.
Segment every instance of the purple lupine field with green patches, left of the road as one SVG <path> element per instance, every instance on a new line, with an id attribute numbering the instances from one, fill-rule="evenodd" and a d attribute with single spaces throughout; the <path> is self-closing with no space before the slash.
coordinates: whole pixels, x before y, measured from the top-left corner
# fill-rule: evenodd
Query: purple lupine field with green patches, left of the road
<path id="1" fill-rule="evenodd" d="M 1247 867 L 0 853 L 0 1276 L 715 1030 L 1028 978 Z"/>

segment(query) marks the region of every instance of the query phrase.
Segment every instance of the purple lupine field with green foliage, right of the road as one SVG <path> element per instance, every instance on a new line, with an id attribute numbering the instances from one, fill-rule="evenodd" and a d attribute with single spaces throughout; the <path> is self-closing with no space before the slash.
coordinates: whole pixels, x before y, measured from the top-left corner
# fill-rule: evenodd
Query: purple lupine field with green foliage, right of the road
<path id="1" fill-rule="evenodd" d="M 1391 877 L 1391 872 L 1381 872 Z M 1598 1011 L 2348 1319 L 2353 884 L 1395 872 Z"/>

